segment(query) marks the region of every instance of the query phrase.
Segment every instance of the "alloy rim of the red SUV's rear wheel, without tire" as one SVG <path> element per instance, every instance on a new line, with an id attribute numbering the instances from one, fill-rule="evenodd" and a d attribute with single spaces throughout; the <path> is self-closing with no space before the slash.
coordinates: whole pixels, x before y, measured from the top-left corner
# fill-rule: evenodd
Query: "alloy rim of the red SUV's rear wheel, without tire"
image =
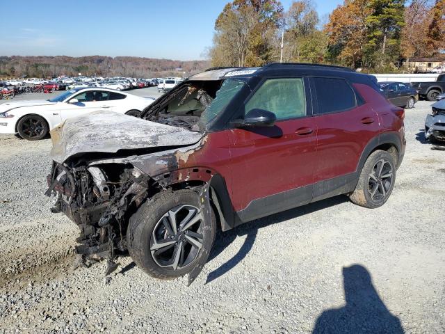
<path id="1" fill-rule="evenodd" d="M 393 175 L 389 161 L 380 159 L 375 163 L 368 178 L 368 192 L 371 200 L 379 202 L 387 197 L 388 192 L 391 191 Z"/>

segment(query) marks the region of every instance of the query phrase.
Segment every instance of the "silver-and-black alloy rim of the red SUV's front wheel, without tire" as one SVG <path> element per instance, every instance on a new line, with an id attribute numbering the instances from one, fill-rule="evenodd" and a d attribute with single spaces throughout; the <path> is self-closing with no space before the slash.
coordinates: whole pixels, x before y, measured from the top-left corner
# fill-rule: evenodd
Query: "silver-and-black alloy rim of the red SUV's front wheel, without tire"
<path id="1" fill-rule="evenodd" d="M 191 264 L 203 246 L 203 216 L 192 205 L 170 209 L 156 223 L 150 240 L 150 253 L 159 267 L 176 271 Z"/>

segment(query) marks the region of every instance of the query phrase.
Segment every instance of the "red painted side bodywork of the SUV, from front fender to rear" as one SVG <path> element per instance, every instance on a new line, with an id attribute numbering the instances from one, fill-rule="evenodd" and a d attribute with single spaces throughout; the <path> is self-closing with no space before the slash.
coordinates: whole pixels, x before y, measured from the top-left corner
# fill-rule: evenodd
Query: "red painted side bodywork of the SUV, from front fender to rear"
<path id="1" fill-rule="evenodd" d="M 258 198 L 354 173 L 380 132 L 396 132 L 404 142 L 400 109 L 369 86 L 354 86 L 365 100 L 355 109 L 212 132 L 200 150 L 179 161 L 179 169 L 205 167 L 223 175 L 235 211 Z"/>

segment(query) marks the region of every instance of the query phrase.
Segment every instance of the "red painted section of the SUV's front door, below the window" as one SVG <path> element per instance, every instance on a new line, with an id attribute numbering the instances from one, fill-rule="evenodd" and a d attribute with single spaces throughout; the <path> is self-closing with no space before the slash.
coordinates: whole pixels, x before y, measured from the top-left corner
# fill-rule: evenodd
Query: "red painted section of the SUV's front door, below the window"
<path id="1" fill-rule="evenodd" d="M 297 134 L 301 128 L 312 132 Z M 253 200 L 314 182 L 316 128 L 310 117 L 277 122 L 274 127 L 253 131 L 232 129 L 229 141 L 236 211 Z M 309 202 L 312 190 L 306 190 Z"/>

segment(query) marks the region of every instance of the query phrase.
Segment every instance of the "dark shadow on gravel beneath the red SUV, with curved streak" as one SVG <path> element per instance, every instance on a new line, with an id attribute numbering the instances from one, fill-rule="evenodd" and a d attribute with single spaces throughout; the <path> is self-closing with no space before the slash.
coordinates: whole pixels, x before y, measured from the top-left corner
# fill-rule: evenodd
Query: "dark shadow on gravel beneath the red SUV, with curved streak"
<path id="1" fill-rule="evenodd" d="M 248 255 L 248 253 L 252 249 L 252 246 L 254 245 L 255 239 L 257 238 L 258 230 L 260 228 L 265 228 L 268 225 L 288 221 L 289 219 L 304 216 L 305 214 L 323 210 L 327 207 L 333 207 L 334 205 L 339 205 L 347 201 L 348 198 L 346 196 L 336 196 L 302 207 L 297 207 L 296 209 L 290 209 L 284 212 L 280 212 L 279 214 L 266 216 L 264 218 L 260 218 L 255 221 L 240 225 L 237 228 L 234 228 L 233 230 L 229 230 L 227 232 L 218 231 L 208 262 L 218 257 L 218 255 L 220 255 L 220 253 L 222 253 L 223 250 L 225 250 L 225 248 L 229 246 L 229 244 L 232 244 L 236 237 L 242 237 L 243 235 L 245 235 L 246 237 L 244 244 L 238 250 L 238 253 L 236 253 L 230 260 L 225 262 L 225 264 L 209 273 L 205 284 L 210 283 L 212 280 L 216 280 L 216 278 L 219 278 L 220 276 L 223 276 L 225 273 L 227 273 L 227 271 L 230 271 L 236 266 L 236 264 L 241 262 L 244 257 L 246 257 L 246 255 Z"/>

